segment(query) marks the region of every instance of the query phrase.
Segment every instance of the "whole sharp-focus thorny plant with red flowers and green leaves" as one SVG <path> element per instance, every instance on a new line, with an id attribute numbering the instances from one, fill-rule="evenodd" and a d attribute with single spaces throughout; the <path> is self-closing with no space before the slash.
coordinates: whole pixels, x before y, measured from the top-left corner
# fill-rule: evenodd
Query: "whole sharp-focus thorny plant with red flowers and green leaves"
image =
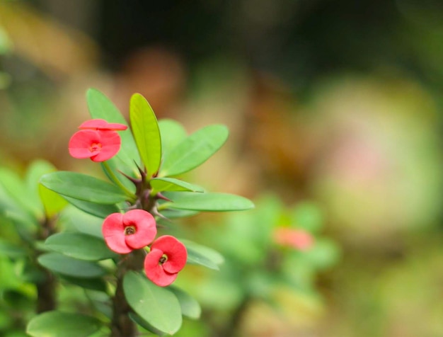
<path id="1" fill-rule="evenodd" d="M 70 206 L 53 210 L 54 224 L 41 236 L 37 261 L 63 282 L 98 290 L 101 314 L 58 311 L 54 304 L 29 321 L 27 333 L 72 336 L 73 326 L 81 326 L 75 336 L 176 333 L 182 316 L 200 316 L 195 299 L 172 285 L 180 270 L 187 263 L 217 268 L 223 259 L 178 239 L 173 219 L 253 207 L 246 198 L 207 192 L 178 178 L 217 152 L 229 132 L 209 125 L 188 136 L 178 122 L 157 121 L 137 93 L 129 127 L 103 93 L 90 89 L 86 97 L 92 119 L 71 137 L 69 153 L 100 163 L 109 181 L 70 171 L 41 176 L 40 189 Z"/>

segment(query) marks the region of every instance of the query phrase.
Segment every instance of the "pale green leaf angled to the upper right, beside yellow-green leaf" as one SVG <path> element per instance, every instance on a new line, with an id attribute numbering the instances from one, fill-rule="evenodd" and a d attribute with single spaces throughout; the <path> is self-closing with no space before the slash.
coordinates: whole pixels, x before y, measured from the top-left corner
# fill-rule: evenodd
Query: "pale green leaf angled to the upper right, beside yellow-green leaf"
<path id="1" fill-rule="evenodd" d="M 159 176 L 177 176 L 203 164 L 222 147 L 228 135 L 224 125 L 208 125 L 197 130 L 163 158 Z"/>

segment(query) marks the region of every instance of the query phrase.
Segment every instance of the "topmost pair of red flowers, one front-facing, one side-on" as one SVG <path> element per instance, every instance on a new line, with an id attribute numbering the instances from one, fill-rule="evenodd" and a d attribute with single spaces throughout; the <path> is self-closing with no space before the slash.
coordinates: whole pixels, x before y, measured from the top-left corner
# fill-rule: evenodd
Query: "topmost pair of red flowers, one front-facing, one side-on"
<path id="1" fill-rule="evenodd" d="M 96 119 L 87 120 L 79 129 L 69 139 L 69 154 L 77 159 L 105 161 L 120 150 L 122 141 L 117 131 L 126 130 L 127 126 Z"/>

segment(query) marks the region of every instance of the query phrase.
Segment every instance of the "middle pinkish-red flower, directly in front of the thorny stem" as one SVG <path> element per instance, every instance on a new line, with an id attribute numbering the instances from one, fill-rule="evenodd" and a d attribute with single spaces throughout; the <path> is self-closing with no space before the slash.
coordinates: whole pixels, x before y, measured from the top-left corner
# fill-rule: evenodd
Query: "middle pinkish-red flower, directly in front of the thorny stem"
<path id="1" fill-rule="evenodd" d="M 116 253 L 130 253 L 149 245 L 157 234 L 156 220 L 145 210 L 113 213 L 106 217 L 102 227 L 108 247 Z"/>

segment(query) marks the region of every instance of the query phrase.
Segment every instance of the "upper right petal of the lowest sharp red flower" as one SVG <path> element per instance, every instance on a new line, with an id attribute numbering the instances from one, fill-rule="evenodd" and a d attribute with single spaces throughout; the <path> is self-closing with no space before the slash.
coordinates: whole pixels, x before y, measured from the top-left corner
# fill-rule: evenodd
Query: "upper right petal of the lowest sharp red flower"
<path id="1" fill-rule="evenodd" d="M 154 241 L 151 249 L 163 251 L 168 259 L 163 263 L 163 269 L 168 273 L 178 273 L 185 267 L 188 258 L 186 247 L 174 236 L 163 235 Z"/>

